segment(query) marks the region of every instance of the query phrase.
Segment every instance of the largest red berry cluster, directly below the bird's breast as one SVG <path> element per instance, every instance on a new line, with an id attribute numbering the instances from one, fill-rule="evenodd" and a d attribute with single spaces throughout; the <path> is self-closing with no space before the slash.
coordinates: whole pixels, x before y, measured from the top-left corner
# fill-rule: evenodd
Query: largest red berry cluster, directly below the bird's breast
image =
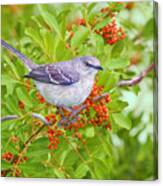
<path id="1" fill-rule="evenodd" d="M 107 109 L 107 103 L 110 102 L 110 96 L 107 95 L 98 101 L 94 101 L 95 98 L 97 98 L 98 96 L 100 96 L 102 94 L 102 91 L 103 91 L 103 87 L 95 84 L 90 96 L 83 103 L 84 105 L 86 105 L 85 111 L 81 112 L 82 115 L 80 117 L 78 117 L 78 119 L 75 122 L 69 124 L 66 127 L 66 129 L 74 130 L 75 135 L 77 135 L 77 134 L 79 135 L 79 136 L 76 136 L 78 139 L 81 139 L 81 135 L 80 135 L 80 133 L 77 133 L 77 131 L 80 128 L 83 128 L 87 124 L 92 124 L 95 127 L 104 125 L 105 128 L 111 129 L 110 122 L 108 121 L 109 120 L 109 112 Z M 79 109 L 79 108 L 80 107 L 75 107 L 73 109 Z M 90 110 L 92 108 L 95 112 L 93 114 L 93 117 L 91 116 L 91 112 L 90 112 Z M 108 127 L 106 127 L 106 126 L 108 126 Z"/>

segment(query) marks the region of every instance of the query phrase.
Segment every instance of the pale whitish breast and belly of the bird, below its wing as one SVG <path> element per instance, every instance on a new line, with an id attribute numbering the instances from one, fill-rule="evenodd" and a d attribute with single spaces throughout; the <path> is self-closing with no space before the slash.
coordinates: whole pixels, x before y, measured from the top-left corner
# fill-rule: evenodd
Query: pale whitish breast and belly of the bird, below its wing
<path id="1" fill-rule="evenodd" d="M 50 104 L 57 106 L 75 106 L 83 103 L 89 96 L 94 83 L 94 78 L 83 78 L 72 85 L 53 85 L 36 82 L 41 95 Z"/>

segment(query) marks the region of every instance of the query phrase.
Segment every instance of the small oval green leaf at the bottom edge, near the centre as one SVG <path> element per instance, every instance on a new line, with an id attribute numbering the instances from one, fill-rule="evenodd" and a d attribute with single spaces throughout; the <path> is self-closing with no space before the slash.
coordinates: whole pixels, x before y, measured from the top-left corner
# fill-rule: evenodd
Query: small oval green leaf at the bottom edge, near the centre
<path id="1" fill-rule="evenodd" d="M 86 164 L 81 163 L 74 172 L 75 178 L 83 178 L 88 171 L 89 167 Z"/>

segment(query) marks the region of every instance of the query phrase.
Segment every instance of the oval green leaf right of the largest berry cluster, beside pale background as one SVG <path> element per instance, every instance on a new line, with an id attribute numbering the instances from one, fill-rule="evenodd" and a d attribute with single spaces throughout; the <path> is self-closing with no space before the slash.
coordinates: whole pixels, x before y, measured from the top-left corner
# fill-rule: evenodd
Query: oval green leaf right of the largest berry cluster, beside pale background
<path id="1" fill-rule="evenodd" d="M 113 117 L 114 122 L 118 126 L 125 128 L 127 130 L 131 128 L 132 123 L 131 123 L 131 120 L 127 116 L 124 116 L 121 113 L 113 113 L 112 117 Z"/>

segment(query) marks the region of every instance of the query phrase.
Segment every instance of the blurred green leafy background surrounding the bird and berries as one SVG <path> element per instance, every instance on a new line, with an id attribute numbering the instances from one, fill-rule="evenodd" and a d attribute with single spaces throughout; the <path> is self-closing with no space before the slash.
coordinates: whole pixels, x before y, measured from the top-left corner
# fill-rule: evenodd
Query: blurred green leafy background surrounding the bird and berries
<path id="1" fill-rule="evenodd" d="M 20 171 L 18 175 L 9 172 L 6 176 L 155 178 L 152 73 L 139 85 L 116 86 L 119 79 L 132 78 L 153 62 L 153 3 L 134 3 L 131 9 L 119 8 L 116 20 L 126 32 L 124 40 L 108 45 L 89 29 L 89 24 L 85 27 L 74 25 L 75 39 L 71 40 L 70 48 L 66 48 L 69 36 L 66 25 L 80 17 L 89 23 L 108 4 L 2 6 L 4 40 L 39 64 L 82 55 L 98 57 L 107 69 L 99 74 L 98 83 L 104 85 L 104 91 L 109 92 L 112 99 L 108 104 L 112 131 L 86 126 L 80 131 L 86 145 L 69 135 L 70 144 L 61 138 L 59 148 L 49 150 L 44 130 L 30 144 L 25 154 L 27 161 L 15 168 L 10 161 L 2 160 L 2 170 Z M 30 117 L 31 111 L 42 108 L 42 104 L 35 99 L 35 88 L 30 96 L 27 94 L 22 78 L 26 69 L 19 59 L 3 50 L 1 66 L 2 116 L 18 114 L 22 118 L 2 123 L 2 155 L 11 152 L 17 156 L 23 143 L 38 128 Z M 24 110 L 18 107 L 20 100 L 25 102 Z M 55 113 L 53 107 L 38 111 L 44 116 L 52 112 Z M 115 119 L 114 113 L 119 113 L 120 119 Z M 13 142 L 13 136 L 18 138 L 17 142 Z"/>

